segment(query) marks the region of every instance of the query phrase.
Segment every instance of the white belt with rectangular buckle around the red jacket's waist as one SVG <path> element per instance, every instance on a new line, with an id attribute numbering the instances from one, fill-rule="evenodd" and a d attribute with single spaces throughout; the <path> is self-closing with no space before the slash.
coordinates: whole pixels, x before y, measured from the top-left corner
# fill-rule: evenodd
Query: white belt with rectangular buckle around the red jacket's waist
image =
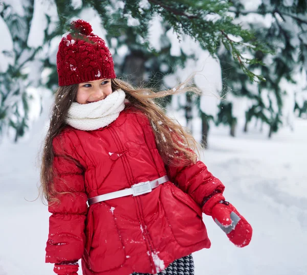
<path id="1" fill-rule="evenodd" d="M 133 196 L 143 195 L 143 194 L 151 192 L 153 188 L 156 188 L 159 185 L 164 184 L 164 182 L 166 181 L 169 181 L 168 176 L 159 177 L 151 181 L 140 182 L 139 184 L 135 184 L 131 186 L 131 188 L 127 188 L 124 190 L 119 190 L 119 191 L 115 191 L 115 192 L 111 192 L 111 193 L 107 193 L 107 194 L 103 194 L 103 195 L 99 195 L 99 196 L 90 198 L 88 202 L 89 202 L 89 205 L 91 205 L 96 202 L 109 200 L 109 199 L 116 199 L 116 198 L 125 197 L 129 195 L 133 195 Z"/>

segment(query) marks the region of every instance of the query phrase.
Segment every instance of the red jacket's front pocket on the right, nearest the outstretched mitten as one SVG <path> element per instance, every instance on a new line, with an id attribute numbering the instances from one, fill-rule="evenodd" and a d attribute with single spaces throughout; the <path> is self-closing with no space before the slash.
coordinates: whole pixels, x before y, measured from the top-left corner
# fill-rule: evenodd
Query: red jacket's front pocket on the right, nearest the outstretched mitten
<path id="1" fill-rule="evenodd" d="M 190 246 L 208 238 L 200 207 L 173 184 L 164 184 L 161 201 L 172 233 L 181 246 Z"/>

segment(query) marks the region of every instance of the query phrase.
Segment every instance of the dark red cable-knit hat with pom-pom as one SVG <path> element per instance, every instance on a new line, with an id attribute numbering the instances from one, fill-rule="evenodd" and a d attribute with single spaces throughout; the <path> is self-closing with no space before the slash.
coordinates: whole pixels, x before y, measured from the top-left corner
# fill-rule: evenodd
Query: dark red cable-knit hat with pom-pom
<path id="1" fill-rule="evenodd" d="M 116 77 L 107 45 L 92 31 L 88 22 L 78 19 L 62 36 L 56 60 L 59 86 Z"/>

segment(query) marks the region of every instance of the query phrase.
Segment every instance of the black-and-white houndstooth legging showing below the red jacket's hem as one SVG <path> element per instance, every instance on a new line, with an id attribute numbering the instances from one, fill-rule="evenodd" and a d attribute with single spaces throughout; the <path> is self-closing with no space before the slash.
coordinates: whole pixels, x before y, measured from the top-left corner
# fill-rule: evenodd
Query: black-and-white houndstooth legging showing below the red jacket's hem
<path id="1" fill-rule="evenodd" d="M 149 273 L 134 272 L 131 275 L 151 275 Z M 173 261 L 166 269 L 157 275 L 194 275 L 194 261 L 192 255 Z"/>

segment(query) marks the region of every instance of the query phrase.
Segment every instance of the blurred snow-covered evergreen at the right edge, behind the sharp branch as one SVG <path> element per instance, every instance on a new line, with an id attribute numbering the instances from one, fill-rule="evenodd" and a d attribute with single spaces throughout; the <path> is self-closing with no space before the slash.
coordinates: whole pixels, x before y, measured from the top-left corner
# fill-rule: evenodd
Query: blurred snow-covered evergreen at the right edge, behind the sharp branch
<path id="1" fill-rule="evenodd" d="M 230 125 L 234 135 L 237 117 L 233 114 L 233 103 L 239 98 L 248 98 L 249 104 L 243 106 L 246 108 L 244 131 L 248 130 L 250 121 L 256 119 L 269 125 L 270 137 L 282 124 L 289 123 L 295 105 L 292 95 L 299 95 L 303 89 L 301 82 L 307 68 L 307 1 L 262 1 L 257 7 L 246 7 L 246 2 L 238 0 L 233 4 L 230 11 L 237 20 L 249 26 L 259 41 L 266 41 L 272 53 L 246 53 L 261 61 L 250 64 L 249 70 L 261 74 L 266 80 L 251 83 L 239 64 L 229 58 L 227 50 L 219 52 L 227 87 L 224 95 L 235 97 L 222 102 L 218 123 Z M 293 103 L 287 105 L 290 108 L 287 110 L 283 103 L 291 98 Z M 296 103 L 296 107 L 299 106 L 302 112 L 304 104 Z"/>

